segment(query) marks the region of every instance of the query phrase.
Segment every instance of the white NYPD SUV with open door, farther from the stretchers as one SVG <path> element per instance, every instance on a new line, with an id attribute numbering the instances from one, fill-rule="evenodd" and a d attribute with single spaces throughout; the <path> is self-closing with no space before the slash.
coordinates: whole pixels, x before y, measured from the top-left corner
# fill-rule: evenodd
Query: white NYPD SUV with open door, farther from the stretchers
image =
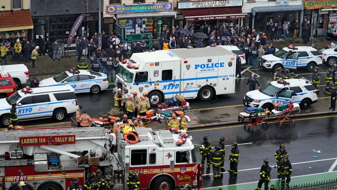
<path id="1" fill-rule="evenodd" d="M 292 53 L 289 51 L 292 51 Z M 282 69 L 306 69 L 312 72 L 316 66 L 321 66 L 322 64 L 320 52 L 309 46 L 284 47 L 273 54 L 262 56 L 259 61 L 260 66 L 272 71 L 276 71 L 278 67 L 281 67 Z"/>

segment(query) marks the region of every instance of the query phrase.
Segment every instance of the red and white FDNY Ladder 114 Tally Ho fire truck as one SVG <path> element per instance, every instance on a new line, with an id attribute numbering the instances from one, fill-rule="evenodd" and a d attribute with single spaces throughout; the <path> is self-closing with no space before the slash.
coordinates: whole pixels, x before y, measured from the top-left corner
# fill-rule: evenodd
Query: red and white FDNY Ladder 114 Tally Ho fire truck
<path id="1" fill-rule="evenodd" d="M 201 169 L 191 159 L 195 157 L 190 139 L 177 146 L 179 134 L 169 130 L 137 128 L 137 134 L 139 142 L 129 144 L 123 140 L 123 129 L 117 141 L 103 127 L 0 132 L 0 190 L 17 190 L 20 181 L 28 190 L 69 190 L 74 177 L 83 186 L 98 168 L 112 177 L 118 190 L 128 189 L 126 179 L 132 170 L 140 177 L 141 189 L 172 190 L 186 183 L 201 188 Z"/>

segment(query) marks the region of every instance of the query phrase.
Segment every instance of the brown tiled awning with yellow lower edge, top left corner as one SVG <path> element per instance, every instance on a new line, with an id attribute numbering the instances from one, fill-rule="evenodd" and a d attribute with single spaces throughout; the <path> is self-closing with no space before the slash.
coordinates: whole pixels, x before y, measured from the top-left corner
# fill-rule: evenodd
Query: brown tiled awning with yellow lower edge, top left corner
<path id="1" fill-rule="evenodd" d="M 0 11 L 0 31 L 32 29 L 29 9 Z"/>

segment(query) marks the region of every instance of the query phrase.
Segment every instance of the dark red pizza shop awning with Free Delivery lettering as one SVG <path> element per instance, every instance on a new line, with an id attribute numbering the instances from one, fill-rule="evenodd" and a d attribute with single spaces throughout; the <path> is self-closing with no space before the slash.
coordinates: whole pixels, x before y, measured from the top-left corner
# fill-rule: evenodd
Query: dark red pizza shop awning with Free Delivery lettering
<path id="1" fill-rule="evenodd" d="M 246 18 L 240 7 L 182 9 L 185 21 L 204 21 Z"/>

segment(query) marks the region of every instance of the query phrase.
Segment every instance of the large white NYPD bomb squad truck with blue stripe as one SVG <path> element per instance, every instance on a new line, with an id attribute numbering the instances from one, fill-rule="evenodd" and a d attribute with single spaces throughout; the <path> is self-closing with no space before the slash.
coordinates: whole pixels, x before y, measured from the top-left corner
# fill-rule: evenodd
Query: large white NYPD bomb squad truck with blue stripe
<path id="1" fill-rule="evenodd" d="M 119 64 L 114 92 L 146 92 L 151 106 L 177 94 L 208 101 L 235 93 L 236 55 L 222 47 L 134 53 Z"/>

